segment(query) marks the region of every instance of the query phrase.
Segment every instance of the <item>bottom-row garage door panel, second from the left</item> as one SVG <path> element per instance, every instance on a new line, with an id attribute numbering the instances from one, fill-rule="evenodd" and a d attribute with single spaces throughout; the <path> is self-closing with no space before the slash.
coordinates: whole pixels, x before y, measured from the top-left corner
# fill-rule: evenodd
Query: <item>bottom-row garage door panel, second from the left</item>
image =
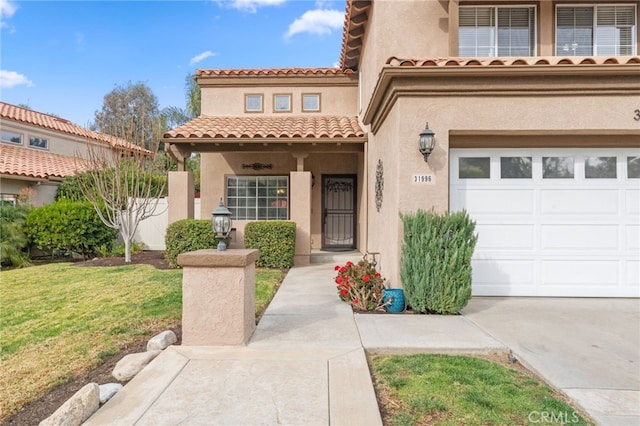
<path id="1" fill-rule="evenodd" d="M 541 286 L 616 287 L 620 282 L 617 260 L 542 260 Z"/>

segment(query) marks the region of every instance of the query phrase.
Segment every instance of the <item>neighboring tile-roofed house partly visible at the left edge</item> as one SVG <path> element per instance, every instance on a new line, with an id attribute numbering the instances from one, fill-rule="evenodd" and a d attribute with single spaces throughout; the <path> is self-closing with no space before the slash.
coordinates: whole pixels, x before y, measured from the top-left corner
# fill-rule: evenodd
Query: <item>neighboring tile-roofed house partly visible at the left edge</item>
<path id="1" fill-rule="evenodd" d="M 76 173 L 75 155 L 87 143 L 130 145 L 60 117 L 0 102 L 0 196 L 15 202 L 24 188 L 34 190 L 34 206 L 55 201 L 56 190 Z"/>

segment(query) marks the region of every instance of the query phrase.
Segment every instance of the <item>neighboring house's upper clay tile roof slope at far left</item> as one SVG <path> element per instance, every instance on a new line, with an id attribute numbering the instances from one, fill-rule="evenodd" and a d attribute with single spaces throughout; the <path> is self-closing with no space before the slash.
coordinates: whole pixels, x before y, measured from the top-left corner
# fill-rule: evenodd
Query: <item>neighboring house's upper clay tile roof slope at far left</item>
<path id="1" fill-rule="evenodd" d="M 65 120 L 64 118 L 43 114 L 41 112 L 11 105 L 5 102 L 0 102 L 0 117 L 42 127 L 43 129 L 54 130 L 68 135 L 91 139 L 97 142 L 108 143 L 111 146 L 117 145 L 140 149 L 136 145 L 133 145 L 123 139 L 85 129 L 84 127 L 72 123 L 69 120 Z"/>

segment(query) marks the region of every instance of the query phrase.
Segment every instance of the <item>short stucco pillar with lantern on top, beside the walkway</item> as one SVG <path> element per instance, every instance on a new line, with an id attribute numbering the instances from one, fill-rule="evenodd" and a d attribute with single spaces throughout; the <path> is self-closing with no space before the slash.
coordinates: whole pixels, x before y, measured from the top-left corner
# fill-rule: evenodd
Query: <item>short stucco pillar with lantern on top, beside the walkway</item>
<path id="1" fill-rule="evenodd" d="M 258 250 L 197 250 L 178 255 L 182 345 L 246 345 L 256 328 Z"/>

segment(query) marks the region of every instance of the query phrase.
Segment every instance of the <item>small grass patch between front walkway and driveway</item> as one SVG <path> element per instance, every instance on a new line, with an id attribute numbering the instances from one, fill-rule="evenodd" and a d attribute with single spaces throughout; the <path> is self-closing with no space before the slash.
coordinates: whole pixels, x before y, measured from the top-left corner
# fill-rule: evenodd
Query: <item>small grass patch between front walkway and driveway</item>
<path id="1" fill-rule="evenodd" d="M 588 425 L 544 383 L 486 359 L 393 355 L 370 359 L 385 425 Z"/>

